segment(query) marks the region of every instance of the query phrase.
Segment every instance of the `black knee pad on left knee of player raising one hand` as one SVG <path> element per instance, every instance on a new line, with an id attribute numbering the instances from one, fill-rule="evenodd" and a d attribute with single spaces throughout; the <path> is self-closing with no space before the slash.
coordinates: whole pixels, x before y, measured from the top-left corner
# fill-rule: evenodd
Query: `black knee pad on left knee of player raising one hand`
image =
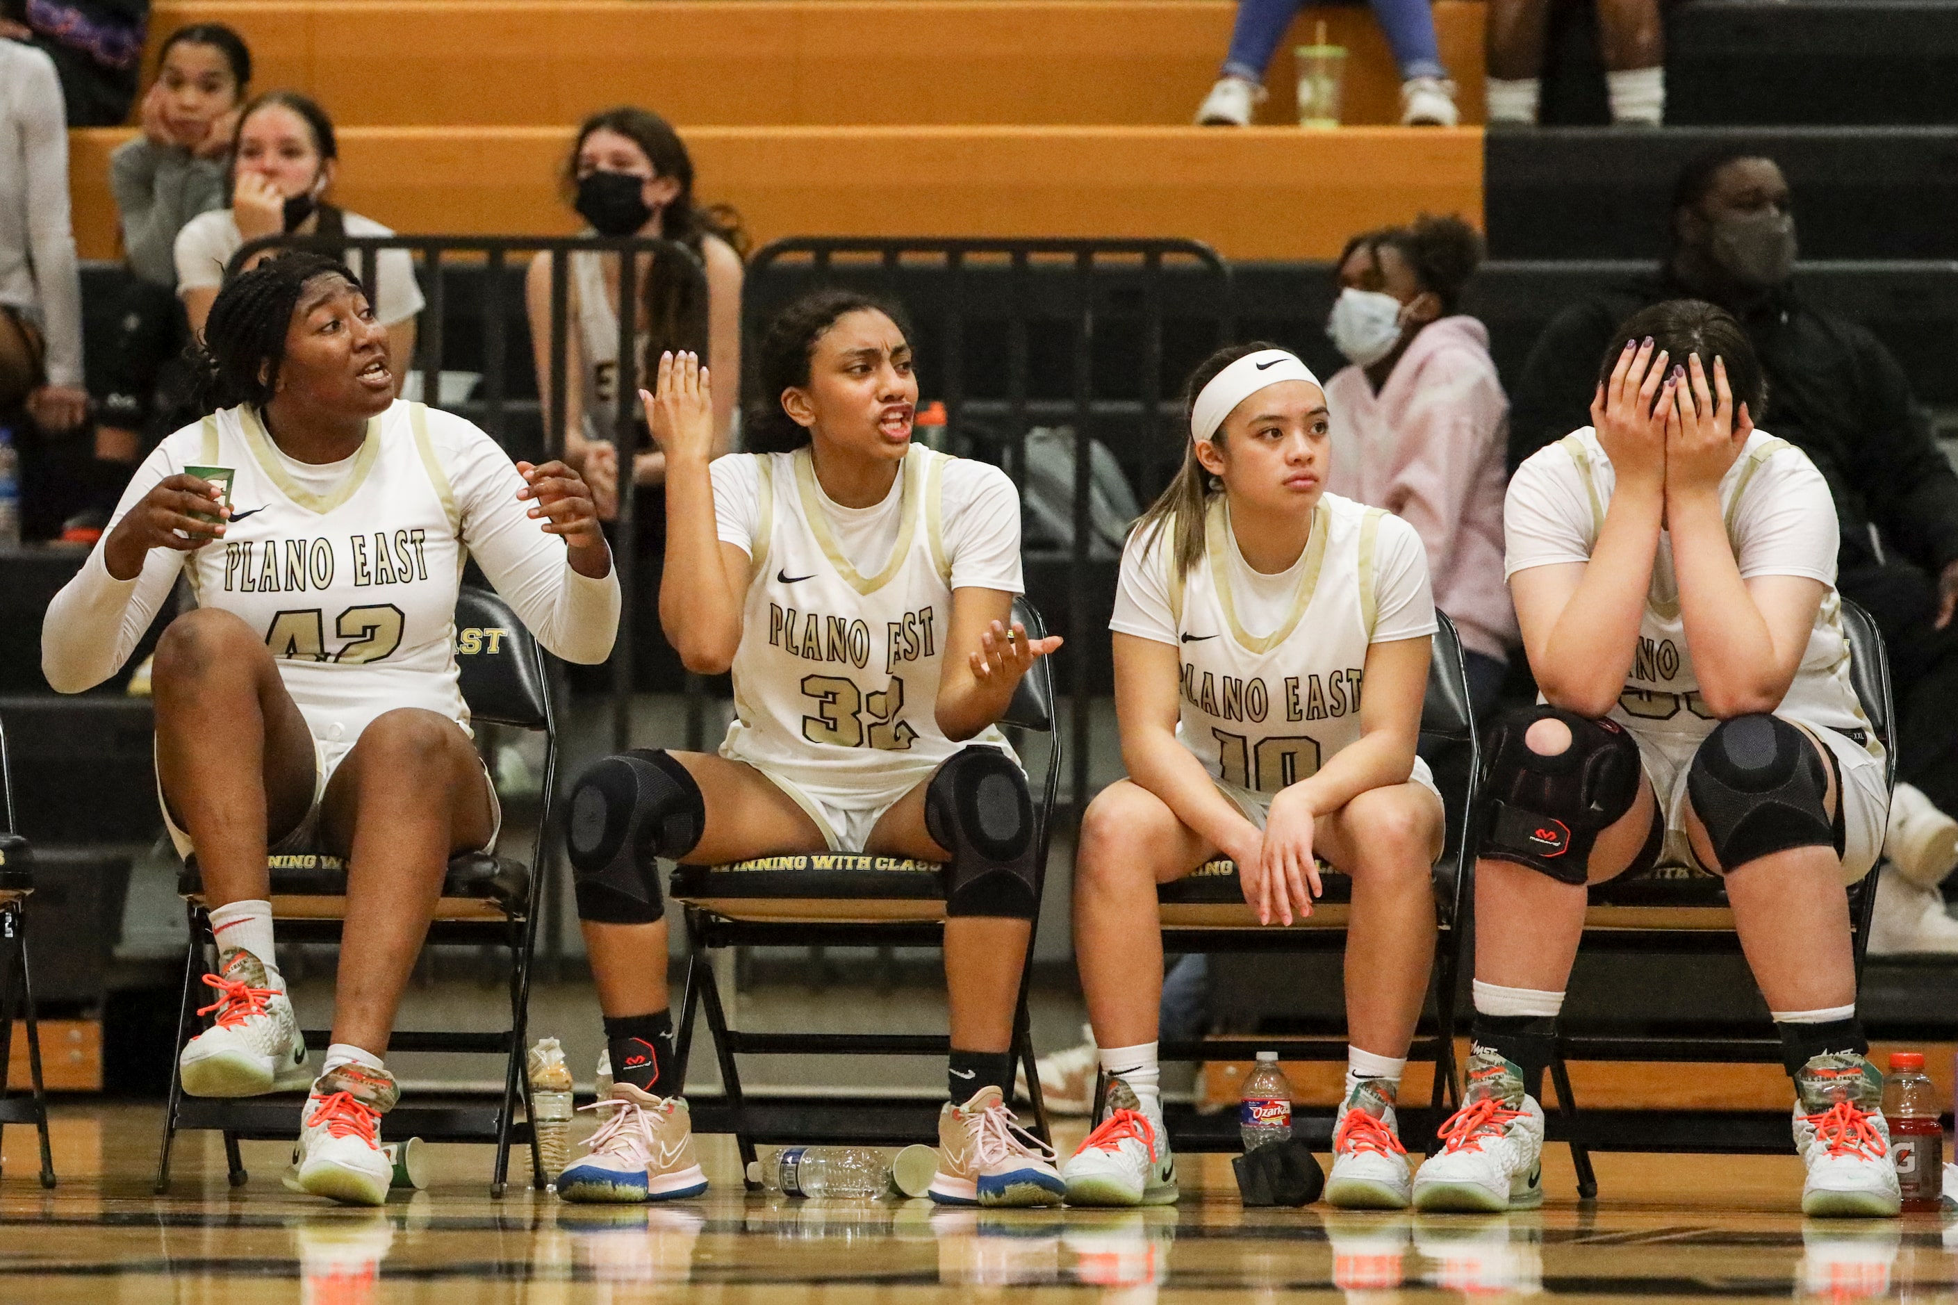
<path id="1" fill-rule="evenodd" d="M 701 841 L 707 803 L 687 768 L 656 749 L 607 756 L 578 778 L 566 845 L 580 919 L 650 925 L 666 915 L 660 856 Z"/>

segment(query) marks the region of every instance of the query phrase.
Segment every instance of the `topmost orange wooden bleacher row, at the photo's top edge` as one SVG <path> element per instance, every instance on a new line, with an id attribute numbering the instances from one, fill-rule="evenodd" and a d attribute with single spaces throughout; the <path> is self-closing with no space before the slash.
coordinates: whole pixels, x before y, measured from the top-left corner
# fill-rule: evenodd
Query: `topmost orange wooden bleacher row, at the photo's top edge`
<path id="1" fill-rule="evenodd" d="M 531 127 L 607 104 L 695 125 L 1181 125 L 1230 43 L 1232 0 L 161 0 L 151 57 L 188 22 L 253 47 L 343 125 Z M 1398 120 L 1373 12 L 1306 10 L 1261 121 L 1294 120 L 1292 47 L 1345 45 L 1349 123 Z M 1443 61 L 1482 120 L 1482 4 L 1439 0 Z M 873 53 L 871 53 L 873 51 Z"/>

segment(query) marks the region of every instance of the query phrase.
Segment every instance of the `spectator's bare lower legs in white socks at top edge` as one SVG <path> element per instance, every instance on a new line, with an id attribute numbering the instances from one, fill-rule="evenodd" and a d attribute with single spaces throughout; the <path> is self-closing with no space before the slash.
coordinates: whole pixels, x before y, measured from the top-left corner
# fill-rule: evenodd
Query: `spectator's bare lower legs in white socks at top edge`
<path id="1" fill-rule="evenodd" d="M 1488 125 L 1537 121 L 1549 31 L 1551 0 L 1488 0 Z M 1658 0 L 1598 0 L 1598 45 L 1611 121 L 1660 125 L 1666 120 L 1666 29 Z"/>

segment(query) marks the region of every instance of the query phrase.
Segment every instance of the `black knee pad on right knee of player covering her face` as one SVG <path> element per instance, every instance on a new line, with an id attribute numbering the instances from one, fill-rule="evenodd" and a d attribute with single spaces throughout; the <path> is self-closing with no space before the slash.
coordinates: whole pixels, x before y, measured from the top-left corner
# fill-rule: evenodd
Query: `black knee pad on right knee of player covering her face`
<path id="1" fill-rule="evenodd" d="M 1686 770 L 1686 794 L 1723 870 L 1792 846 L 1842 852 L 1829 815 L 1829 766 L 1815 743 L 1778 715 L 1715 725 Z"/>

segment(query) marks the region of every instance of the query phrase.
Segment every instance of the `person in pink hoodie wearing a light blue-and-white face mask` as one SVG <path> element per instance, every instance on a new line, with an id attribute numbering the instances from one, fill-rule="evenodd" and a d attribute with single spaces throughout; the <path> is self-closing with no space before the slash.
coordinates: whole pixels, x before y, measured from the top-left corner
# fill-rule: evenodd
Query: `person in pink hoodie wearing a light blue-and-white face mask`
<path id="1" fill-rule="evenodd" d="M 1478 715 L 1502 694 L 1515 611 L 1502 584 L 1504 419 L 1488 327 L 1457 312 L 1482 263 L 1461 218 L 1369 231 L 1339 259 L 1326 333 L 1351 366 L 1326 382 L 1328 486 L 1406 519 L 1427 547 L 1435 605 L 1463 639 Z"/>

